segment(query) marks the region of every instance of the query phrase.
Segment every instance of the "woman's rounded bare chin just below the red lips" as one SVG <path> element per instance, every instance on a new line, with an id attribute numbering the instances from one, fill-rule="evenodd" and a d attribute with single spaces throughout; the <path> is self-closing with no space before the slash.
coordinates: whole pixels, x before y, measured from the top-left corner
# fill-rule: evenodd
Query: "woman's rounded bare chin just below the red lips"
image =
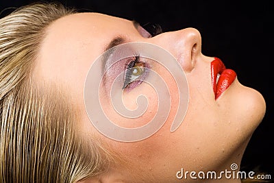
<path id="1" fill-rule="evenodd" d="M 266 112 L 264 97 L 258 90 L 243 86 L 237 78 L 220 97 L 220 108 L 229 110 L 231 120 L 244 136 L 250 136 L 262 121 Z"/>

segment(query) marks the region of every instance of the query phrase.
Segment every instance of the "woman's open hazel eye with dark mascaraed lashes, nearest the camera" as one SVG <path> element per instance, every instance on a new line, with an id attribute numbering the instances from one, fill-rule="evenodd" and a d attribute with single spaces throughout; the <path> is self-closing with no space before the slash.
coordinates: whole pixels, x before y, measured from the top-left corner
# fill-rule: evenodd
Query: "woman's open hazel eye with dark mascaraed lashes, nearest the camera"
<path id="1" fill-rule="evenodd" d="M 135 56 L 129 60 L 125 66 L 125 80 L 123 89 L 135 88 L 147 77 L 147 64 L 140 60 L 140 56 Z"/>

